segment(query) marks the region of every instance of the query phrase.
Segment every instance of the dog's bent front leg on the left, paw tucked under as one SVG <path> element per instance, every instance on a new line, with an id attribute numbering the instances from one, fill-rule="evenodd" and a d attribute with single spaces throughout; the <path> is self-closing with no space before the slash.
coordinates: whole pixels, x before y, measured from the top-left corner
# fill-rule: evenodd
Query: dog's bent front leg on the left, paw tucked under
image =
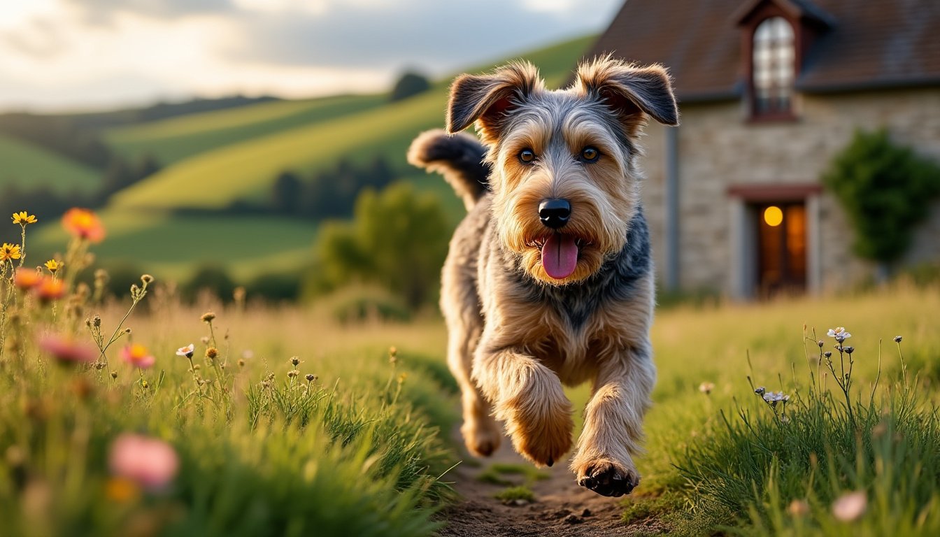
<path id="1" fill-rule="evenodd" d="M 555 371 L 521 348 L 488 341 L 484 334 L 473 374 L 525 458 L 536 466 L 552 466 L 571 449 L 572 403 Z"/>

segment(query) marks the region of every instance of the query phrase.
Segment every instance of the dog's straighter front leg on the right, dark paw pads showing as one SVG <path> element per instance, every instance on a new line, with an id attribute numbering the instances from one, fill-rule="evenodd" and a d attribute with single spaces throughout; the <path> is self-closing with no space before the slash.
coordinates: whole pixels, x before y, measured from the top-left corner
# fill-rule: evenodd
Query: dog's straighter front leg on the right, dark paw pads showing
<path id="1" fill-rule="evenodd" d="M 649 341 L 603 360 L 572 460 L 578 484 L 615 497 L 639 484 L 632 457 L 641 450 L 643 415 L 655 382 Z"/>

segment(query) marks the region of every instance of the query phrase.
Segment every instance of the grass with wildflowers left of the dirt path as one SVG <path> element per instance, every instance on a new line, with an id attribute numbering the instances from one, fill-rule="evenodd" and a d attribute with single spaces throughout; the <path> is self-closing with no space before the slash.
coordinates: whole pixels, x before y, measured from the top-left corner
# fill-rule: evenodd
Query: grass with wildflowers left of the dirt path
<path id="1" fill-rule="evenodd" d="M 86 247 L 73 242 L 56 274 L 67 287 Z M 10 534 L 438 527 L 431 514 L 450 496 L 438 478 L 456 461 L 436 427 L 449 430 L 457 401 L 419 353 L 443 344 L 426 325 L 377 324 L 371 335 L 358 325 L 353 336 L 319 311 L 184 307 L 149 278 L 128 282 L 133 303 L 80 291 L 44 299 L 4 282 L 0 516 Z M 207 308 L 217 315 L 200 322 Z M 152 368 L 125 363 L 132 340 L 156 356 Z M 174 355 L 189 341 L 192 361 Z M 155 484 L 153 455 L 136 455 L 131 470 L 116 463 L 127 434 L 170 450 L 177 471 Z"/>

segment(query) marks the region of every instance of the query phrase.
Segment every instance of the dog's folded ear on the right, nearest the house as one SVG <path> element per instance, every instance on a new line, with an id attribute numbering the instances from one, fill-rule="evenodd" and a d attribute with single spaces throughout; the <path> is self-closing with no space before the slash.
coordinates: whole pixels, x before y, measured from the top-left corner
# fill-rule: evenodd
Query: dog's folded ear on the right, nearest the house
<path id="1" fill-rule="evenodd" d="M 664 125 L 679 124 L 679 107 L 663 66 L 635 67 L 610 56 L 600 57 L 578 67 L 574 84 L 585 94 L 601 98 L 625 123 L 636 124 L 645 113 Z"/>

